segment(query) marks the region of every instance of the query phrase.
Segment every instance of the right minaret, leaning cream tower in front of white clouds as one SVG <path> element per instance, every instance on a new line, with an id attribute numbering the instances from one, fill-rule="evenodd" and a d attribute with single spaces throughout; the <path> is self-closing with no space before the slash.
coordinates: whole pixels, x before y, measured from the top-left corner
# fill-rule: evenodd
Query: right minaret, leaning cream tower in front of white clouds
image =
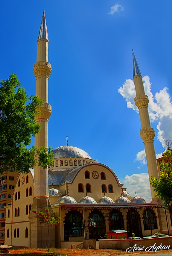
<path id="1" fill-rule="evenodd" d="M 156 177 L 159 181 L 158 175 L 158 167 L 156 163 L 156 154 L 153 139 L 155 137 L 155 131 L 150 126 L 150 119 L 148 113 L 148 96 L 145 95 L 142 75 L 136 60 L 136 57 L 133 52 L 133 79 L 136 90 L 136 97 L 134 98 L 135 104 L 138 107 L 140 122 L 141 122 L 141 130 L 140 137 L 144 142 L 144 148 L 146 153 L 147 160 L 147 169 L 150 176 Z M 155 200 L 154 188 L 150 187 L 152 200 Z"/>

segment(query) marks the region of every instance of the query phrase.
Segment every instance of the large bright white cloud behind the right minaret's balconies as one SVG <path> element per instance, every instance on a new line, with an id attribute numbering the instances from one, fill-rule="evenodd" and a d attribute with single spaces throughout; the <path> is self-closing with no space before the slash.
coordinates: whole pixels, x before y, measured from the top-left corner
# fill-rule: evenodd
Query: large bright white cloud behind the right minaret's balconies
<path id="1" fill-rule="evenodd" d="M 158 122 L 158 140 L 162 143 L 163 148 L 166 147 L 165 140 L 172 140 L 172 102 L 171 96 L 167 92 L 168 88 L 164 87 L 163 90 L 157 92 L 153 96 L 151 92 L 151 83 L 149 76 L 143 77 L 143 84 L 145 94 L 149 97 L 148 111 L 151 122 Z M 134 82 L 131 79 L 127 79 L 123 86 L 121 86 L 118 92 L 127 102 L 127 107 L 132 108 L 138 112 L 138 108 L 134 103 L 134 97 L 136 96 Z"/>

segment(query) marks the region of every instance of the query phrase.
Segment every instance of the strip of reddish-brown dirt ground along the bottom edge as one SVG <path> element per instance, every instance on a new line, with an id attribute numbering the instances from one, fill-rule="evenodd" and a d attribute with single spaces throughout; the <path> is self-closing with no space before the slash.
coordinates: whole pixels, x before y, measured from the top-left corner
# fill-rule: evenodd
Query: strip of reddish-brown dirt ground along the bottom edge
<path id="1" fill-rule="evenodd" d="M 49 249 L 50 252 L 58 252 L 61 253 L 61 255 L 71 255 L 71 256 L 114 256 L 114 255 L 131 255 L 133 254 L 136 256 L 139 256 L 141 254 L 153 254 L 155 255 L 155 252 L 130 252 L 127 253 L 122 250 L 115 250 L 115 249 L 98 249 L 98 250 L 91 250 L 91 249 Z M 18 250 L 9 250 L 10 254 L 15 253 L 46 253 L 48 252 L 48 249 L 18 249 Z M 157 251 L 156 254 L 159 253 L 172 253 L 172 249 L 170 250 L 164 250 L 164 251 Z"/>

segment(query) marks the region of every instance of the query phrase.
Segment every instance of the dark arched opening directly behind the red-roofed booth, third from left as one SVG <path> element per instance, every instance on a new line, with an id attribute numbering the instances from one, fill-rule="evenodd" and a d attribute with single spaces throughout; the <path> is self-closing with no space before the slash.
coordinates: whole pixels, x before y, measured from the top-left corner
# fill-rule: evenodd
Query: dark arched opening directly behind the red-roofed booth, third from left
<path id="1" fill-rule="evenodd" d="M 124 229 L 124 219 L 119 210 L 112 210 L 110 212 L 109 230 Z"/>

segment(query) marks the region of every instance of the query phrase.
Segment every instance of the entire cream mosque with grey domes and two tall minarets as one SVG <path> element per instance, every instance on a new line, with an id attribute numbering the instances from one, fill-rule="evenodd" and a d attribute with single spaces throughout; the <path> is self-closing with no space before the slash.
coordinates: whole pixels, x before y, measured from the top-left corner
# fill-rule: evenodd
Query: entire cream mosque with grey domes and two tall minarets
<path id="1" fill-rule="evenodd" d="M 35 136 L 35 146 L 48 146 L 48 32 L 45 13 L 42 16 L 37 40 L 37 60 L 34 64 L 36 95 L 44 100 L 36 122 L 41 125 Z M 147 111 L 148 97 L 144 93 L 142 76 L 133 53 L 133 78 L 136 87 L 135 103 L 139 109 L 140 135 L 144 141 L 149 176 L 158 178 L 153 138 Z M 28 174 L 19 173 L 11 204 L 5 206 L 5 244 L 18 247 L 47 247 L 47 229 L 41 228 L 33 209 L 56 211 L 60 224 L 51 227 L 50 246 L 71 248 L 84 238 L 104 238 L 107 231 L 127 230 L 143 237 L 171 229 L 164 205 L 157 202 L 151 188 L 152 202 L 141 196 L 130 196 L 115 173 L 82 149 L 67 145 L 53 150 L 53 164 L 42 169 L 35 166 Z"/>

